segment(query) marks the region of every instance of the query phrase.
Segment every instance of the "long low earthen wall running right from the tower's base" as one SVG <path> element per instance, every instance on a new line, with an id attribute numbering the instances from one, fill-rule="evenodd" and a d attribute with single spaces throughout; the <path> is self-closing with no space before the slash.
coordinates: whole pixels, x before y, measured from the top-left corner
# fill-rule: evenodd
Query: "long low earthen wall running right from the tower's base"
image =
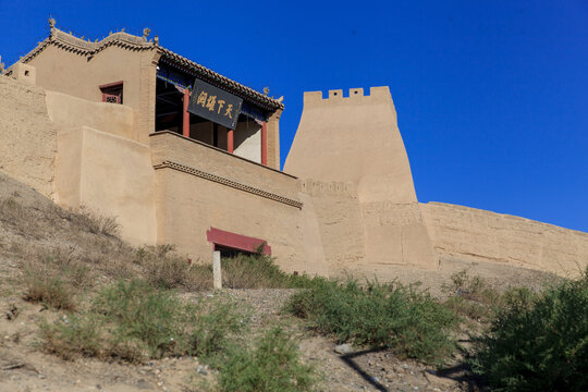
<path id="1" fill-rule="evenodd" d="M 588 233 L 525 218 L 442 204 L 421 205 L 434 249 L 575 277 L 588 265 Z"/>

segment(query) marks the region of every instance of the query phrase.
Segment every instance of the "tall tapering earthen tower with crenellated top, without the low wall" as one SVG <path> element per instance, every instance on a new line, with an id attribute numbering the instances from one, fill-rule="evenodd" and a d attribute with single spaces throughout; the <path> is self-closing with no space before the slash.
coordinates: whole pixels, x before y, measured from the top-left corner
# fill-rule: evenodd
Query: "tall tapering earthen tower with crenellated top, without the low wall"
<path id="1" fill-rule="evenodd" d="M 314 198 L 321 233 L 329 238 L 322 241 L 329 266 L 438 267 L 388 87 L 372 87 L 369 96 L 362 88 L 352 88 L 348 97 L 343 90 L 330 90 L 327 99 L 321 91 L 305 93 L 284 171 L 318 182 L 353 184 L 354 203 Z M 333 225 L 327 216 L 342 219 Z M 347 221 L 353 221 L 353 231 L 330 234 Z M 359 241 L 363 246 L 351 247 Z M 338 255 L 328 250 L 331 246 L 347 250 Z"/>

